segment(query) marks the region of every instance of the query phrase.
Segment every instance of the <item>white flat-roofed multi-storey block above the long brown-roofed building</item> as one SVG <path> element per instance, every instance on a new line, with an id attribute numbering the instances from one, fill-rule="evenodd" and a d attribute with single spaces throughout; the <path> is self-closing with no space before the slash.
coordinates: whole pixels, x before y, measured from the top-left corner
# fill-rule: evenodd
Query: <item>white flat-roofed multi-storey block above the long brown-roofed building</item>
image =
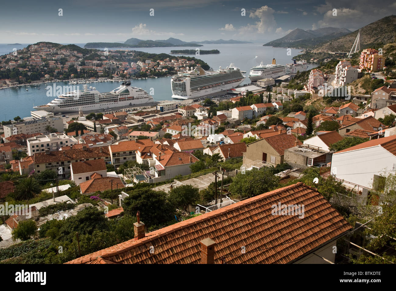
<path id="1" fill-rule="evenodd" d="M 62 146 L 72 146 L 78 144 L 75 137 L 66 133 L 50 133 L 48 135 L 37 135 L 30 137 L 27 141 L 28 156 L 33 156 L 35 152 L 45 150 L 59 150 Z"/>

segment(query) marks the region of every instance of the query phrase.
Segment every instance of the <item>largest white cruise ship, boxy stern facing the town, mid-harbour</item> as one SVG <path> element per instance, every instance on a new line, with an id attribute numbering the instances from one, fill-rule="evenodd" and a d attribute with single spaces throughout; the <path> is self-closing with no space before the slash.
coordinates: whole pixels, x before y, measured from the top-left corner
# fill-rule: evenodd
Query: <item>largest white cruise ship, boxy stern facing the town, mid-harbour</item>
<path id="1" fill-rule="evenodd" d="M 217 71 L 205 71 L 200 66 L 197 67 L 191 67 L 191 70 L 187 68 L 186 71 L 172 77 L 172 98 L 186 100 L 216 95 L 237 87 L 246 79 L 241 70 L 232 63 L 229 67 L 220 67 Z"/>

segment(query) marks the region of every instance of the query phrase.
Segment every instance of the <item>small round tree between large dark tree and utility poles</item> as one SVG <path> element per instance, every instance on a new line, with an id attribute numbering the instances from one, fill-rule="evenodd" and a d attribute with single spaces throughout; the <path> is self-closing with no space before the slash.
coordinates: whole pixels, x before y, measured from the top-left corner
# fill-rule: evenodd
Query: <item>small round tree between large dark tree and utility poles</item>
<path id="1" fill-rule="evenodd" d="M 175 187 L 171 190 L 168 199 L 173 207 L 188 211 L 189 205 L 198 203 L 200 199 L 199 189 L 192 185 Z"/>

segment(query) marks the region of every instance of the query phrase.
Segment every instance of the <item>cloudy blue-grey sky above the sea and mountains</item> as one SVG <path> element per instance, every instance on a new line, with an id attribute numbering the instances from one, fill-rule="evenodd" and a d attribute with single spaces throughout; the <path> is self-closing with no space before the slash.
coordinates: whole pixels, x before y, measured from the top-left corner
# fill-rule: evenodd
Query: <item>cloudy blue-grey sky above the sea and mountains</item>
<path id="1" fill-rule="evenodd" d="M 0 43 L 124 42 L 169 37 L 265 43 L 291 30 L 351 31 L 396 14 L 395 0 L 2 0 Z"/>

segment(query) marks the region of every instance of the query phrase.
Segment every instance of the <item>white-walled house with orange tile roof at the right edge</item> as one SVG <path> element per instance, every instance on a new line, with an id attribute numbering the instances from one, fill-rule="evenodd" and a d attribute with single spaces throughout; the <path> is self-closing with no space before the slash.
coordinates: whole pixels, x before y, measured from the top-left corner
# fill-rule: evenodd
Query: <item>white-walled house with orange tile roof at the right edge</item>
<path id="1" fill-rule="evenodd" d="M 337 179 L 380 191 L 385 177 L 394 173 L 395 167 L 396 135 L 340 150 L 333 153 L 331 160 L 331 173 Z"/>

